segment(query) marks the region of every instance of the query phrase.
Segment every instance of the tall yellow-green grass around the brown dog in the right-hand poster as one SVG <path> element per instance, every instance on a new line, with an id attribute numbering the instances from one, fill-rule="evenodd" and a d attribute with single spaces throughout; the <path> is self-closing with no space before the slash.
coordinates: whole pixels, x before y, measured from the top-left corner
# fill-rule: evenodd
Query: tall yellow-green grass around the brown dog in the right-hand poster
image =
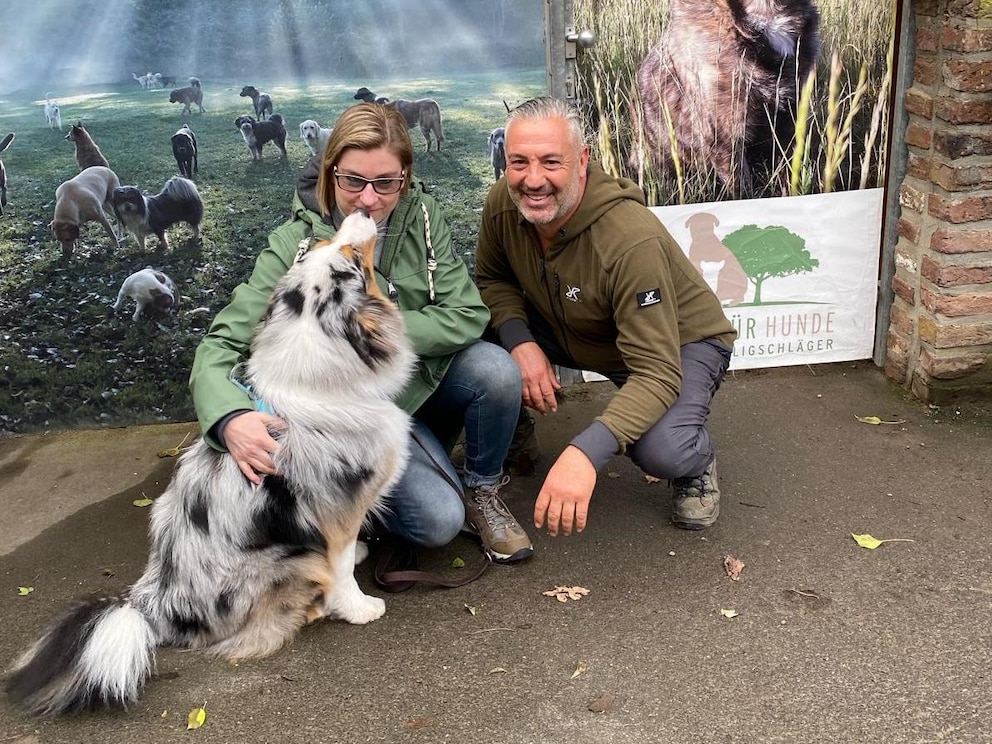
<path id="1" fill-rule="evenodd" d="M 596 124 L 594 156 L 614 175 L 644 189 L 651 204 L 727 198 L 716 173 L 681 162 L 678 172 L 657 173 L 639 152 L 644 128 L 635 76 L 664 33 L 668 0 L 576 0 L 576 27 L 596 34 L 578 57 L 577 93 Z M 798 81 L 797 131 L 776 142 L 765 175 L 768 194 L 822 193 L 880 185 L 885 174 L 887 102 L 895 0 L 815 0 L 821 48 L 812 80 Z M 747 84 L 744 81 L 742 84 Z M 670 123 L 669 123 L 669 131 Z M 661 146 L 661 145 L 659 145 Z M 678 153 L 672 142 L 671 161 Z"/>

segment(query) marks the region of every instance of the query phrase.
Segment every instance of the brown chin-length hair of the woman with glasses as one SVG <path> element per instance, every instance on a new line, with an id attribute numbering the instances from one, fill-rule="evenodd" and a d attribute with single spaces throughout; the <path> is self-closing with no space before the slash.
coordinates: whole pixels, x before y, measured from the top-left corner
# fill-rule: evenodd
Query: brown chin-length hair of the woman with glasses
<path id="1" fill-rule="evenodd" d="M 334 166 L 346 150 L 377 150 L 383 147 L 400 160 L 403 189 L 410 187 L 413 176 L 413 143 L 406 119 L 392 106 L 359 103 L 345 109 L 334 125 L 324 148 L 320 175 L 317 177 L 317 203 L 326 217 L 334 211 Z"/>

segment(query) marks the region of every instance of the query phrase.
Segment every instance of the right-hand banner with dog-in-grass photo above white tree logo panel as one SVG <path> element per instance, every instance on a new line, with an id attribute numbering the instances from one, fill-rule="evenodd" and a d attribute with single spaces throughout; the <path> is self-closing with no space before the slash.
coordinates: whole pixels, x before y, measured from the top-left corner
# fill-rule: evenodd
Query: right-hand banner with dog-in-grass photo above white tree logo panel
<path id="1" fill-rule="evenodd" d="M 576 0 L 594 157 L 740 332 L 732 367 L 870 357 L 895 3 Z"/>

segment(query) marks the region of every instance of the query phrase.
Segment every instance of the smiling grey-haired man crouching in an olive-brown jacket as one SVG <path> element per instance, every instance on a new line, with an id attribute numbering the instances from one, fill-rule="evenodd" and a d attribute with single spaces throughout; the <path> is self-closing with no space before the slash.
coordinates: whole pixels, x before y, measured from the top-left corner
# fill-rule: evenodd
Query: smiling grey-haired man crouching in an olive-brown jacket
<path id="1" fill-rule="evenodd" d="M 619 453 L 672 481 L 678 527 L 709 527 L 720 490 L 706 418 L 736 337 L 720 301 L 640 189 L 590 164 L 574 107 L 536 98 L 512 111 L 506 159 L 482 213 L 476 279 L 520 367 L 523 404 L 557 409 L 555 364 L 619 388 L 552 465 L 534 524 L 581 532 L 596 472 Z"/>

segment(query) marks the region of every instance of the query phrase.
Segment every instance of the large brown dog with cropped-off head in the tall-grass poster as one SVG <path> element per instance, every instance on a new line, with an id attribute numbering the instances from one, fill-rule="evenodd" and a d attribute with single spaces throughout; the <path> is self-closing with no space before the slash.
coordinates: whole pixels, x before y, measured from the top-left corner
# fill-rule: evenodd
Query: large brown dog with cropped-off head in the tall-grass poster
<path id="1" fill-rule="evenodd" d="M 637 71 L 631 167 L 674 172 L 671 121 L 683 167 L 715 174 L 734 198 L 769 191 L 819 54 L 819 18 L 813 0 L 670 0 L 665 34 Z"/>

